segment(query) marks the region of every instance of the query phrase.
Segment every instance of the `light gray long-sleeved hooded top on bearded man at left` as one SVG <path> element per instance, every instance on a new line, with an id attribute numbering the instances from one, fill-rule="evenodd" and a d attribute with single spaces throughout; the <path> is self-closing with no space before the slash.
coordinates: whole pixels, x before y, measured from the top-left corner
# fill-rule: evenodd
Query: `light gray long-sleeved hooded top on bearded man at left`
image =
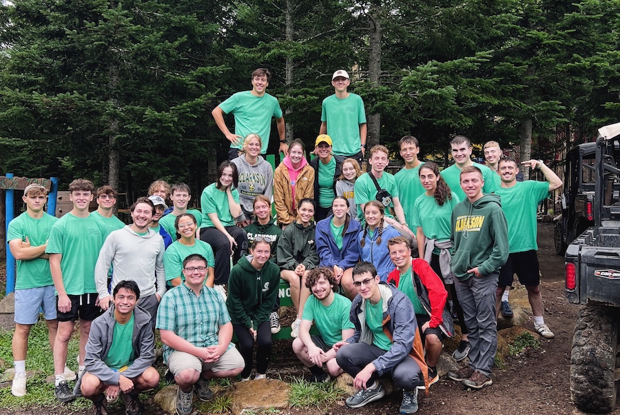
<path id="1" fill-rule="evenodd" d="M 110 265 L 114 267 L 110 291 L 114 290 L 118 281 L 134 280 L 140 288 L 140 298 L 156 292 L 163 297 L 166 293 L 164 251 L 161 235 L 153 230 L 149 229 L 146 235 L 141 236 L 136 234 L 130 225 L 125 225 L 122 229 L 111 232 L 99 251 L 95 265 L 95 283 L 99 298 L 110 295 L 107 290 L 107 271 L 110 270 Z"/>

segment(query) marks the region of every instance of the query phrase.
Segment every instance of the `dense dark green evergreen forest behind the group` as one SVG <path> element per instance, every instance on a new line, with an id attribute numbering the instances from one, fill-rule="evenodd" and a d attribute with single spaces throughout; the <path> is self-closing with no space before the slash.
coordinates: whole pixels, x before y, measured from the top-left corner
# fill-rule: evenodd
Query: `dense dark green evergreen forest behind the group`
<path id="1" fill-rule="evenodd" d="M 454 134 L 561 163 L 620 121 L 620 0 L 1 3 L 0 174 L 61 189 L 84 177 L 131 201 L 162 178 L 200 194 L 228 145 L 211 110 L 260 67 L 307 148 L 341 68 L 369 146 L 412 134 L 444 163 Z"/>

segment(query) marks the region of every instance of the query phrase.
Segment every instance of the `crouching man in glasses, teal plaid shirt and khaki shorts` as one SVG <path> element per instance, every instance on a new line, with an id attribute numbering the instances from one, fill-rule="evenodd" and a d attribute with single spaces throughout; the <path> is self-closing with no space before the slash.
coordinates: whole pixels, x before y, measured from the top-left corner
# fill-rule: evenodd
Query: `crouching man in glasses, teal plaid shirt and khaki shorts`
<path id="1" fill-rule="evenodd" d="M 163 359 L 178 385 L 176 413 L 193 411 L 192 392 L 201 401 L 213 398 L 211 378 L 231 378 L 245 367 L 231 343 L 233 327 L 226 303 L 205 285 L 207 260 L 192 254 L 183 260 L 185 282 L 163 296 L 155 327 L 164 343 Z"/>

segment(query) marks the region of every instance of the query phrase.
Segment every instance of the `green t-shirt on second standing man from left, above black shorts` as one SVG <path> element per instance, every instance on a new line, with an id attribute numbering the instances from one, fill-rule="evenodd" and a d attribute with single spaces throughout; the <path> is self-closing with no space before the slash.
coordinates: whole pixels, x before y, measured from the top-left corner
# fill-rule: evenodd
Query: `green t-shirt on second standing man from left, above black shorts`
<path id="1" fill-rule="evenodd" d="M 97 292 L 94 266 L 105 239 L 105 227 L 89 215 L 78 218 L 68 213 L 54 223 L 47 254 L 63 254 L 61 270 L 68 295 Z"/>

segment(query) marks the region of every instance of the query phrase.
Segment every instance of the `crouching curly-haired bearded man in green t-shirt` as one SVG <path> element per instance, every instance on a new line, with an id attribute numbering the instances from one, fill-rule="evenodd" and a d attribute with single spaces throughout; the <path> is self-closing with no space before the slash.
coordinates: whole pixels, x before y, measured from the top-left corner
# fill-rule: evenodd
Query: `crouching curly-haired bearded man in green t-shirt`
<path id="1" fill-rule="evenodd" d="M 342 374 L 333 345 L 353 336 L 353 323 L 349 320 L 351 300 L 333 292 L 337 285 L 333 271 L 328 267 L 311 270 L 306 287 L 311 292 L 304 305 L 299 337 L 293 341 L 293 352 L 310 370 L 312 382 L 327 382 L 329 375 Z M 312 323 L 320 335 L 311 335 Z M 329 375 L 323 372 L 323 363 Z"/>

